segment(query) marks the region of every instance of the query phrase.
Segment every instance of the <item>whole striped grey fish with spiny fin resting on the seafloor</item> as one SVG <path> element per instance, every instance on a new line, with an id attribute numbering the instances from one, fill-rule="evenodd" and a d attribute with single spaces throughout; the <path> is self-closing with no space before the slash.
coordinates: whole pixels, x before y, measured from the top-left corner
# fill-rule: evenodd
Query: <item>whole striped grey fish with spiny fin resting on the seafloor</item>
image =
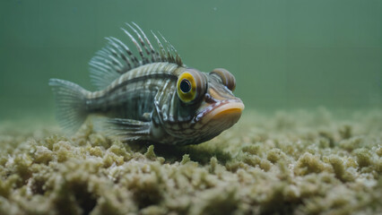
<path id="1" fill-rule="evenodd" d="M 100 131 L 121 142 L 188 145 L 209 141 L 239 121 L 244 104 L 233 94 L 232 73 L 188 67 L 159 31 L 151 30 L 153 46 L 135 22 L 121 30 L 136 50 L 106 38 L 89 63 L 97 90 L 49 79 L 65 130 L 78 131 L 88 116 L 100 116 Z"/>

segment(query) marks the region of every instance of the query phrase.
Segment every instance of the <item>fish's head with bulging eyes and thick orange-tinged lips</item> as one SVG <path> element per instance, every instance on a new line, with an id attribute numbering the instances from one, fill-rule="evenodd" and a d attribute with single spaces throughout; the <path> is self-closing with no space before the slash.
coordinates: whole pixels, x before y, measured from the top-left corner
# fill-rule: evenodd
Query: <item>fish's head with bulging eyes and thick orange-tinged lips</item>
<path id="1" fill-rule="evenodd" d="M 178 115 L 189 120 L 177 132 L 182 138 L 204 142 L 239 121 L 244 104 L 233 95 L 235 77 L 225 69 L 202 73 L 187 69 L 178 76 Z M 193 142 L 194 143 L 194 142 Z"/>

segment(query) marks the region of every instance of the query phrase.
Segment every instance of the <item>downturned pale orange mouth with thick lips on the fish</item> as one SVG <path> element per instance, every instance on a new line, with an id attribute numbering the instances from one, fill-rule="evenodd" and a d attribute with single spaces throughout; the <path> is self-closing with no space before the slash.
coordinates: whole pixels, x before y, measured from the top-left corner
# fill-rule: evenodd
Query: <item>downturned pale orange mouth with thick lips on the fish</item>
<path id="1" fill-rule="evenodd" d="M 207 107 L 204 112 L 197 117 L 204 124 L 210 121 L 234 121 L 236 123 L 244 109 L 244 104 L 240 99 L 226 99 L 214 103 L 211 107 Z"/>

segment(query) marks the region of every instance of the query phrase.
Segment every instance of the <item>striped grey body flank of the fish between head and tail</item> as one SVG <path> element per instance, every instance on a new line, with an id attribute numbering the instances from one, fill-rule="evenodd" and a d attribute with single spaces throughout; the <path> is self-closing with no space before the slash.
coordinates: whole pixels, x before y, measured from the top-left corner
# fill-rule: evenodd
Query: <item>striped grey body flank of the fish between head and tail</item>
<path id="1" fill-rule="evenodd" d="M 88 93 L 87 109 L 102 116 L 151 121 L 153 101 L 162 105 L 169 99 L 182 70 L 177 64 L 170 63 L 137 67 L 111 82 L 105 90 Z"/>

